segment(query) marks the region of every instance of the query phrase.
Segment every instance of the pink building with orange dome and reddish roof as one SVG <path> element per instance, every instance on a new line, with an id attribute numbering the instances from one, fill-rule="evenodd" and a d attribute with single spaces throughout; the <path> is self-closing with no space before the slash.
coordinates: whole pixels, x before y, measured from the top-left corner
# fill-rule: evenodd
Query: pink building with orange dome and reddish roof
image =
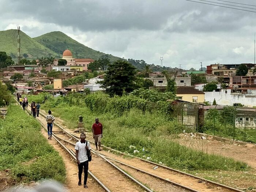
<path id="1" fill-rule="evenodd" d="M 71 68 L 74 68 L 74 66 L 78 66 L 77 67 L 78 71 L 80 71 L 81 68 L 82 68 L 82 71 L 87 71 L 88 65 L 94 61 L 93 59 L 75 59 L 73 58 L 72 52 L 68 49 L 64 50 L 61 59 L 67 60 L 66 66 L 73 66 Z"/>

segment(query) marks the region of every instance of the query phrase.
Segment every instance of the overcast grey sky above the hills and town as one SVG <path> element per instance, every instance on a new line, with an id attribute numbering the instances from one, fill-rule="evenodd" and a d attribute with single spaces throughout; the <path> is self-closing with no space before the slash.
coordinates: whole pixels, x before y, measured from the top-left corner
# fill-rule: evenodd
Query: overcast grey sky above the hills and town
<path id="1" fill-rule="evenodd" d="M 256 12 L 186 0 L 0 0 L 0 5 L 0 30 L 20 26 L 30 37 L 62 31 L 95 50 L 148 64 L 160 64 L 161 56 L 163 65 L 183 69 L 254 60 Z"/>

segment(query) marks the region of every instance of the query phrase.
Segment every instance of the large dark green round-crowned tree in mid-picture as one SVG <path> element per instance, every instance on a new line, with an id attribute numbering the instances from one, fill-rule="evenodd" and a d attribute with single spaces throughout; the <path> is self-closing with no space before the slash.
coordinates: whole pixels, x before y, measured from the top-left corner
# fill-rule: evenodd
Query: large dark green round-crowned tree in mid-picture
<path id="1" fill-rule="evenodd" d="M 123 95 L 124 92 L 130 93 L 135 87 L 135 67 L 127 61 L 115 61 L 109 64 L 104 80 L 99 83 L 106 89 L 111 97 Z"/>

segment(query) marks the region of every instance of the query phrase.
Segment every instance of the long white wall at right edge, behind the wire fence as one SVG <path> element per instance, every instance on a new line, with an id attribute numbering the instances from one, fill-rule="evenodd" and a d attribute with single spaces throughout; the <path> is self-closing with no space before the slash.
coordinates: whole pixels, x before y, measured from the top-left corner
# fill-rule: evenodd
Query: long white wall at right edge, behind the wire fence
<path id="1" fill-rule="evenodd" d="M 220 92 L 204 92 L 205 100 L 213 102 L 214 98 L 218 105 L 231 105 L 233 103 L 241 103 L 248 107 L 256 106 L 255 91 L 252 90 L 252 94 L 232 93 L 231 89 L 222 89 Z"/>

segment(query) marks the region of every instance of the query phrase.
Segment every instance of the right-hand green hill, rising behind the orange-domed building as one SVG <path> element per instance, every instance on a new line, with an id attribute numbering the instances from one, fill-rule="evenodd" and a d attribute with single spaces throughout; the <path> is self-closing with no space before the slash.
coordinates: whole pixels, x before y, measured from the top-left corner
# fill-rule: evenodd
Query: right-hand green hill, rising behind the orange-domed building
<path id="1" fill-rule="evenodd" d="M 64 50 L 71 50 L 74 58 L 91 58 L 99 59 L 101 57 L 108 57 L 110 61 L 120 60 L 121 58 L 112 56 L 111 54 L 105 54 L 96 50 L 93 50 L 79 42 L 75 41 L 71 37 L 60 31 L 53 31 L 46 33 L 39 37 L 33 38 L 35 41 L 53 50 L 62 57 Z"/>

